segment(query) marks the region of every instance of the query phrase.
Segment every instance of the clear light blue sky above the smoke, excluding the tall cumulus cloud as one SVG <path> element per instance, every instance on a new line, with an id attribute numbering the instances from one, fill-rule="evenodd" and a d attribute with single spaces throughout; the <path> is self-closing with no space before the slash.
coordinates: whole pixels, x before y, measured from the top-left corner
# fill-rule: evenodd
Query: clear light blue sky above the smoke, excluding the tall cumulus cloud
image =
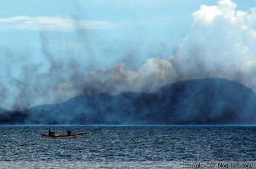
<path id="1" fill-rule="evenodd" d="M 255 1 L 235 2 L 238 10 L 249 11 L 256 6 Z M 8 50 L 14 57 L 31 55 L 39 62 L 40 34 L 44 34 L 49 50 L 55 52 L 54 57 L 63 58 L 72 49 L 73 57 L 82 56 L 84 62 L 90 60 L 110 66 L 135 50 L 139 54 L 136 63 L 143 64 L 150 57 L 168 57 L 189 32 L 192 13 L 202 4 L 216 3 L 209 0 L 4 0 L 0 6 L 1 61 L 5 62 L 4 50 Z M 85 37 L 77 31 L 86 32 Z M 84 46 L 96 50 L 94 55 L 88 54 Z"/>

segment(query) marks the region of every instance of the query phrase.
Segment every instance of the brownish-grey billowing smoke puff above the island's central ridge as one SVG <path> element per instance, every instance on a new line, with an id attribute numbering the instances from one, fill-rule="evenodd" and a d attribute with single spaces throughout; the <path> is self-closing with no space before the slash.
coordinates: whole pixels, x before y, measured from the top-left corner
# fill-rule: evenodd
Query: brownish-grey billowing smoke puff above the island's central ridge
<path id="1" fill-rule="evenodd" d="M 88 80 L 84 81 L 85 93 L 103 92 L 118 94 L 120 92 L 153 92 L 160 86 L 170 82 L 172 65 L 167 60 L 148 59 L 138 70 L 125 70 L 124 64 L 114 66 L 110 70 L 92 71 Z"/>

